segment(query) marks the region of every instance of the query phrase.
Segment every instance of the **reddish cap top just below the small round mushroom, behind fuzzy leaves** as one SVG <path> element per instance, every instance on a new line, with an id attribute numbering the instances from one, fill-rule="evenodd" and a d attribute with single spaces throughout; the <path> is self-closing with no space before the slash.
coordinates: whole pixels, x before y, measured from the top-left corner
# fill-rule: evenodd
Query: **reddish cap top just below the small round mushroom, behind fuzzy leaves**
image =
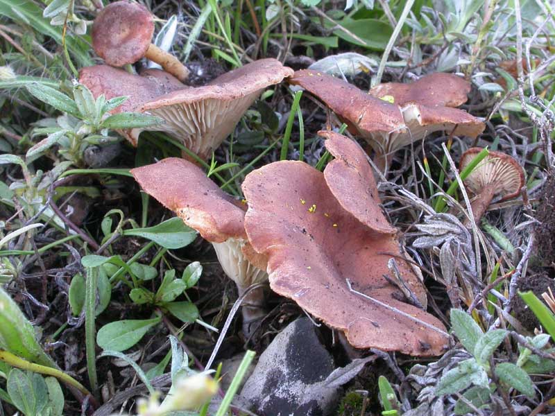
<path id="1" fill-rule="evenodd" d="M 153 98 L 185 87 L 177 78 L 160 69 L 148 69 L 142 76 L 138 76 L 108 65 L 80 69 L 79 82 L 91 90 L 94 98 L 101 94 L 107 100 L 127 96 L 128 99 L 112 110 L 112 114 L 135 111 L 138 106 Z"/>

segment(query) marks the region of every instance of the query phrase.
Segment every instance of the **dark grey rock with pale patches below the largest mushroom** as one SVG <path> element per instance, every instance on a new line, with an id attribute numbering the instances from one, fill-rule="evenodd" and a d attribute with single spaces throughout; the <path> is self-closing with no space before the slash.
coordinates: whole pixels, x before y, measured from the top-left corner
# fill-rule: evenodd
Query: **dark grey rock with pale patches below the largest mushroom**
<path id="1" fill-rule="evenodd" d="M 340 384 L 356 374 L 352 366 L 344 376 L 334 370 L 314 324 L 299 318 L 262 353 L 241 397 L 259 416 L 327 416 L 335 410 Z"/>

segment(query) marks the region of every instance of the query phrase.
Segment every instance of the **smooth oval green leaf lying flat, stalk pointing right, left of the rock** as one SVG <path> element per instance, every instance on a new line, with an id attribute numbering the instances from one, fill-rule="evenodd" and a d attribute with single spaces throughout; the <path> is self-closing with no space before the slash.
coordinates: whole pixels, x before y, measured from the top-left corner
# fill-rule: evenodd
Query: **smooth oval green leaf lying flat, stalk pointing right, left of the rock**
<path id="1" fill-rule="evenodd" d="M 121 320 L 105 324 L 96 334 L 102 349 L 123 351 L 138 343 L 144 334 L 160 322 L 160 317 L 146 320 Z"/>

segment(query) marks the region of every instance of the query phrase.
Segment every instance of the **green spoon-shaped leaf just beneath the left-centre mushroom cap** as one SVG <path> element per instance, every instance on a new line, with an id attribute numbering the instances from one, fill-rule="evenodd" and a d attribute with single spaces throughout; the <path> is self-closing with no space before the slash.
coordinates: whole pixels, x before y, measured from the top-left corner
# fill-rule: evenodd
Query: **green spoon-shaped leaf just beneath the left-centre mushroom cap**
<path id="1" fill-rule="evenodd" d="M 124 229 L 123 235 L 143 237 L 169 249 L 185 247 L 196 239 L 196 231 L 187 227 L 178 217 L 170 218 L 154 227 Z"/>

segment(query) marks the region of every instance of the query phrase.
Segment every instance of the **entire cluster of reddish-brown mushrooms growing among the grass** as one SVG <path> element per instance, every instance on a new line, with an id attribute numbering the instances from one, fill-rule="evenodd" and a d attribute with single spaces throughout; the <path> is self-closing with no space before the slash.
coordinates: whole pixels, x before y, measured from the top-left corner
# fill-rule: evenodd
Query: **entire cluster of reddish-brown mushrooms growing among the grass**
<path id="1" fill-rule="evenodd" d="M 128 96 L 112 112 L 159 116 L 164 123 L 154 130 L 167 132 L 203 159 L 230 135 L 266 87 L 286 78 L 323 101 L 353 135 L 366 139 L 384 169 L 395 150 L 430 132 L 475 138 L 484 130 L 479 119 L 456 108 L 466 102 L 470 84 L 454 75 L 434 73 L 366 93 L 325 73 L 293 73 L 278 60 L 264 59 L 203 87 L 189 87 L 182 83 L 187 69 L 153 46 L 152 35 L 153 19 L 146 8 L 129 1 L 110 4 L 93 27 L 94 49 L 106 65 L 82 69 L 80 82 L 94 96 Z M 136 75 L 119 68 L 145 56 L 164 70 Z M 121 134 L 136 145 L 140 131 Z M 239 295 L 246 293 L 246 334 L 264 316 L 264 291 L 248 289 L 269 281 L 273 291 L 342 331 L 353 347 L 441 354 L 448 334 L 426 312 L 422 275 L 382 213 L 366 153 L 338 133 L 318 135 L 334 156 L 323 172 L 305 162 L 273 162 L 246 176 L 244 201 L 223 192 L 186 159 L 163 159 L 131 173 L 146 193 L 212 243 Z M 468 150 L 461 167 L 479 150 Z M 476 196 L 475 219 L 495 196 L 518 195 L 523 182 L 522 168 L 511 157 L 490 152 L 466 180 Z"/>

